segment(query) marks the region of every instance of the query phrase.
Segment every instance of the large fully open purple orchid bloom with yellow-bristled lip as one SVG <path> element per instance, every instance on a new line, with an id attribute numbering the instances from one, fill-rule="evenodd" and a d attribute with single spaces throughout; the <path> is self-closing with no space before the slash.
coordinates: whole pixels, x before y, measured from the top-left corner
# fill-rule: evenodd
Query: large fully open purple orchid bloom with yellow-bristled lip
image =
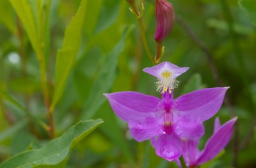
<path id="1" fill-rule="evenodd" d="M 104 94 L 116 115 L 129 123 L 131 136 L 139 142 L 150 139 L 156 154 L 168 161 L 182 154 L 181 137 L 204 135 L 202 122 L 218 112 L 228 89 L 205 88 L 173 99 L 176 78 L 187 70 L 170 62 L 143 69 L 157 77 L 162 99 L 139 92 Z"/>

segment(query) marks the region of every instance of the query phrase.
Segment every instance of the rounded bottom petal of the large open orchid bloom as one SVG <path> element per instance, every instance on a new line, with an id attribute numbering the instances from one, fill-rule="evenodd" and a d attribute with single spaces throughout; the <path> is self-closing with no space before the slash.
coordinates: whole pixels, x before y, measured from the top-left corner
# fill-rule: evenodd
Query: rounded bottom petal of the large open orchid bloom
<path id="1" fill-rule="evenodd" d="M 180 138 L 175 134 L 163 134 L 158 137 L 156 143 L 156 154 L 169 162 L 179 158 L 182 152 Z"/>

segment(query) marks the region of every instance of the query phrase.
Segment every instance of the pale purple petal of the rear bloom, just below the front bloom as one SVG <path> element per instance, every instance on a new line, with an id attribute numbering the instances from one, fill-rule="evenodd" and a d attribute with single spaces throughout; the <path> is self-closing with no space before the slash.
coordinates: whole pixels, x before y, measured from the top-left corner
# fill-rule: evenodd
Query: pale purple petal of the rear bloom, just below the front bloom
<path id="1" fill-rule="evenodd" d="M 182 138 L 182 156 L 187 165 L 195 165 L 196 157 L 199 155 L 197 145 L 198 139 L 186 139 Z"/>

